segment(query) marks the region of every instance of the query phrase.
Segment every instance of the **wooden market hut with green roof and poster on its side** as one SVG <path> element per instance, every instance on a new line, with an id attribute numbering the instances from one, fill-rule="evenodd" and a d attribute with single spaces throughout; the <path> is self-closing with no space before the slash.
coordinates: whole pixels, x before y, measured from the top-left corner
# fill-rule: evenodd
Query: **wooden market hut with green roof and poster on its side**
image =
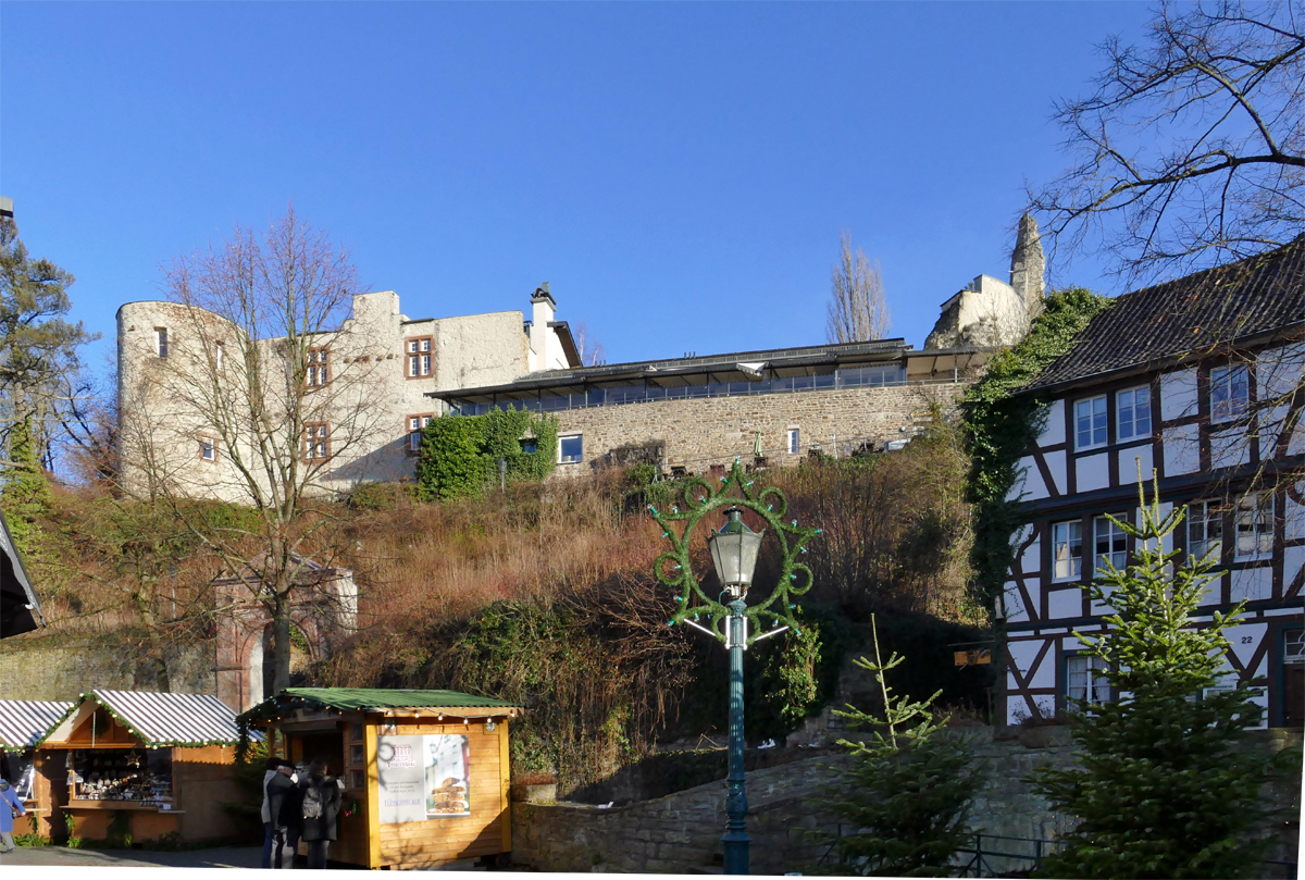
<path id="1" fill-rule="evenodd" d="M 422 868 L 512 849 L 508 722 L 519 712 L 454 691 L 287 688 L 240 721 L 345 782 L 333 862 Z"/>

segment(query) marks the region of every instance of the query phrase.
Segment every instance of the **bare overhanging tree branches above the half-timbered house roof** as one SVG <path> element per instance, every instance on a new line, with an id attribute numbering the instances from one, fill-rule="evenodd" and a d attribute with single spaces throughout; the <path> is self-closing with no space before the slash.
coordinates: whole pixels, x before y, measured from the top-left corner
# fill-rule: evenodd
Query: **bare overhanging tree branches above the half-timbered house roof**
<path id="1" fill-rule="evenodd" d="M 1144 46 L 1101 51 L 1096 91 L 1056 106 L 1075 163 L 1030 193 L 1066 255 L 1129 281 L 1177 275 L 1305 228 L 1305 4 L 1163 4 Z"/>

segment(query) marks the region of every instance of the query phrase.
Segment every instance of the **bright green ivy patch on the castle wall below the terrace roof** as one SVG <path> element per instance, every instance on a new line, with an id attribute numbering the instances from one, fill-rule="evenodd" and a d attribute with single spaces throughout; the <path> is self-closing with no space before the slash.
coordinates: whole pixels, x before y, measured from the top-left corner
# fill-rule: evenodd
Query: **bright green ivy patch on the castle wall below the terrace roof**
<path id="1" fill-rule="evenodd" d="M 557 462 L 557 419 L 517 410 L 432 419 L 418 449 L 418 492 L 428 501 L 479 496 L 499 482 L 500 458 L 509 480 L 548 477 Z"/>

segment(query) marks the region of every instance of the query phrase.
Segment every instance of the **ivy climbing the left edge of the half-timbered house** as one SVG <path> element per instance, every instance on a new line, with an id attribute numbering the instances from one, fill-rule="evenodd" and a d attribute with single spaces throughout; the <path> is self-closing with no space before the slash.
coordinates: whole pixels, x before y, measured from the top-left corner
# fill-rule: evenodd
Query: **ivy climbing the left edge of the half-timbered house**
<path id="1" fill-rule="evenodd" d="M 1049 363 L 1067 354 L 1075 337 L 1114 300 L 1083 287 L 1051 294 L 1028 336 L 988 362 L 988 372 L 960 403 L 971 470 L 967 494 L 974 504 L 975 542 L 970 561 L 975 599 L 990 607 L 1014 561 L 1010 538 L 1019 526 L 1017 505 L 1007 503 L 1019 478 L 1019 458 L 1037 439 L 1047 402 L 1017 397 Z"/>

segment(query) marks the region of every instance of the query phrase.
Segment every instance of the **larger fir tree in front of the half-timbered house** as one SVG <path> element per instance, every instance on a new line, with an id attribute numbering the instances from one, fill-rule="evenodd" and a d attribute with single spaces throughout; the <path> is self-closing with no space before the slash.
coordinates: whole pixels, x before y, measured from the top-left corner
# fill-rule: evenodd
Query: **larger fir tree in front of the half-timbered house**
<path id="1" fill-rule="evenodd" d="M 1186 508 L 1161 517 L 1138 480 L 1141 524 L 1116 525 L 1137 542 L 1137 563 L 1107 561 L 1084 589 L 1116 611 L 1103 632 L 1075 633 L 1100 658 L 1118 699 L 1087 706 L 1074 739 L 1081 766 L 1043 769 L 1031 781 L 1052 806 L 1079 819 L 1065 849 L 1041 873 L 1054 877 L 1255 876 L 1268 838 L 1257 833 L 1272 811 L 1259 799 L 1274 761 L 1248 749 L 1242 731 L 1259 721 L 1246 687 L 1214 691 L 1224 666 L 1225 627 L 1245 603 L 1208 625 L 1191 615 L 1215 561 L 1165 552 L 1163 539 Z M 1158 492 L 1155 494 L 1158 496 Z M 1112 517 L 1113 520 L 1113 517 Z M 1288 756 L 1285 749 L 1282 756 Z"/>

